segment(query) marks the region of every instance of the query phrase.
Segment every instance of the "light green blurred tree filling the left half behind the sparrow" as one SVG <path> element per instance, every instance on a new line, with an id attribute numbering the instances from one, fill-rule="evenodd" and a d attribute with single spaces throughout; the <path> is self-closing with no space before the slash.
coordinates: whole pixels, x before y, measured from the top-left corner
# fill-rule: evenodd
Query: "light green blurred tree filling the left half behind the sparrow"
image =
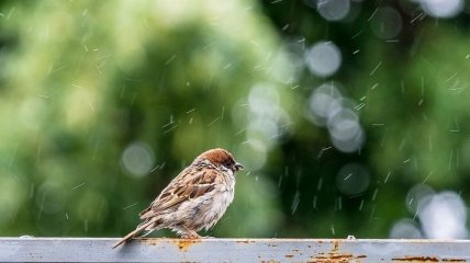
<path id="1" fill-rule="evenodd" d="M 1 55 L 3 233 L 119 236 L 209 148 L 232 150 L 248 171 L 262 165 L 266 150 L 246 141 L 246 95 L 269 87 L 282 98 L 279 108 L 292 95 L 272 78 L 284 67 L 273 58 L 283 55 L 256 4 L 3 9 L 12 10 L 5 35 L 19 39 Z M 281 220 L 276 195 L 264 176 L 240 175 L 217 231 L 272 235 Z"/>

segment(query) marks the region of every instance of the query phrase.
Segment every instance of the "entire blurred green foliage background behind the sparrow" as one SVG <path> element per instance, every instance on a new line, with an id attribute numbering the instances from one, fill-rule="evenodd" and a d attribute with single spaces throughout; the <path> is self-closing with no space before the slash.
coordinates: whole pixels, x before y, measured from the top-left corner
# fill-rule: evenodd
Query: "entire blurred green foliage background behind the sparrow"
<path id="1" fill-rule="evenodd" d="M 390 3 L 404 22 L 388 42 L 370 26 L 379 3 L 326 22 L 305 2 L 0 3 L 0 232 L 122 236 L 214 147 L 246 170 L 212 236 L 388 237 L 413 217 L 405 197 L 416 184 L 467 199 L 466 15 L 410 23 L 414 5 Z M 342 52 L 333 77 L 304 66 L 318 41 Z M 305 114 L 327 81 L 363 103 L 359 151 L 336 150 Z M 130 171 L 142 158 L 152 169 Z M 357 195 L 338 190 L 350 164 L 370 175 Z"/>

